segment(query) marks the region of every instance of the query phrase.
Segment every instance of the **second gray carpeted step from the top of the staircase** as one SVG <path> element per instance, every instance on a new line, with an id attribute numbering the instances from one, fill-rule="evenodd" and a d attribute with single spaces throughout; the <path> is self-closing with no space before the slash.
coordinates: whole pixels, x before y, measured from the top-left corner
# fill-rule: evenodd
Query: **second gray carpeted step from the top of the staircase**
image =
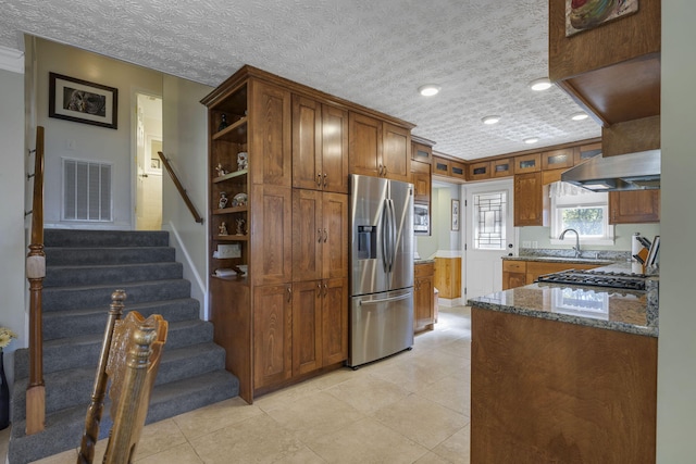
<path id="1" fill-rule="evenodd" d="M 44 249 L 47 266 L 79 265 L 86 262 L 101 264 L 174 262 L 176 250 L 172 247 L 103 247 Z"/>

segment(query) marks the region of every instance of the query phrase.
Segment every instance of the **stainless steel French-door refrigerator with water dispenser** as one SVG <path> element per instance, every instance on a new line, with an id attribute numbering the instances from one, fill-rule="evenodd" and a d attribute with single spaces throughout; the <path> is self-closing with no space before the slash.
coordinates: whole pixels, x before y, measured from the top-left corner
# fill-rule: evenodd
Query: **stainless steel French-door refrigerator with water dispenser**
<path id="1" fill-rule="evenodd" d="M 413 346 L 413 185 L 352 174 L 348 365 Z"/>

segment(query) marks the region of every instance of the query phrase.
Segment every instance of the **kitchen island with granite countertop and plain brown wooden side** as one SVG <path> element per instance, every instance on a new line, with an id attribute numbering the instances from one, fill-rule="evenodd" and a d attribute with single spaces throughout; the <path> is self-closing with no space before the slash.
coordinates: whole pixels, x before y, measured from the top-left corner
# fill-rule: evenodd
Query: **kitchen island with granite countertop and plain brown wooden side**
<path id="1" fill-rule="evenodd" d="M 469 300 L 471 462 L 655 463 L 648 280 L 647 291 L 532 284 Z"/>

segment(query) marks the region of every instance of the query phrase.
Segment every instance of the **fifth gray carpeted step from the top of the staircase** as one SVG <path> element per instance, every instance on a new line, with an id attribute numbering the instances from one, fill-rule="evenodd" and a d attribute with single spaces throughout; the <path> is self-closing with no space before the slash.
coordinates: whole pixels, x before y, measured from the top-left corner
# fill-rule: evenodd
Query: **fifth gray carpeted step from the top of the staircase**
<path id="1" fill-rule="evenodd" d="M 192 298 L 166 301 L 149 301 L 127 304 L 124 316 L 137 311 L 142 316 L 160 314 L 169 323 L 192 319 L 199 316 L 200 304 Z M 44 313 L 44 339 L 54 340 L 85 334 L 103 334 L 109 310 L 103 306 L 80 310 L 49 311 Z"/>

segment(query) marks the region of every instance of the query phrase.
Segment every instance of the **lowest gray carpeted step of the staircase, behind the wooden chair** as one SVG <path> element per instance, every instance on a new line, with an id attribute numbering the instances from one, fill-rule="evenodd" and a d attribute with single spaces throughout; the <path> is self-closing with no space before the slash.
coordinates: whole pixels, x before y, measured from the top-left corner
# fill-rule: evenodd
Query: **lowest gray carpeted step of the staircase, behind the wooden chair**
<path id="1" fill-rule="evenodd" d="M 192 411 L 235 397 L 239 389 L 236 377 L 226 371 L 215 371 L 186 380 L 156 386 L 150 397 L 146 424 L 160 422 L 182 413 Z M 46 430 L 32 436 L 25 435 L 26 421 L 17 421 L 12 426 L 12 446 L 8 457 L 12 464 L 28 464 L 70 449 L 79 447 L 85 430 L 85 415 L 89 400 L 46 415 Z M 110 402 L 107 401 L 99 439 L 109 436 L 112 421 Z M 16 430 L 16 431 L 15 431 Z"/>

